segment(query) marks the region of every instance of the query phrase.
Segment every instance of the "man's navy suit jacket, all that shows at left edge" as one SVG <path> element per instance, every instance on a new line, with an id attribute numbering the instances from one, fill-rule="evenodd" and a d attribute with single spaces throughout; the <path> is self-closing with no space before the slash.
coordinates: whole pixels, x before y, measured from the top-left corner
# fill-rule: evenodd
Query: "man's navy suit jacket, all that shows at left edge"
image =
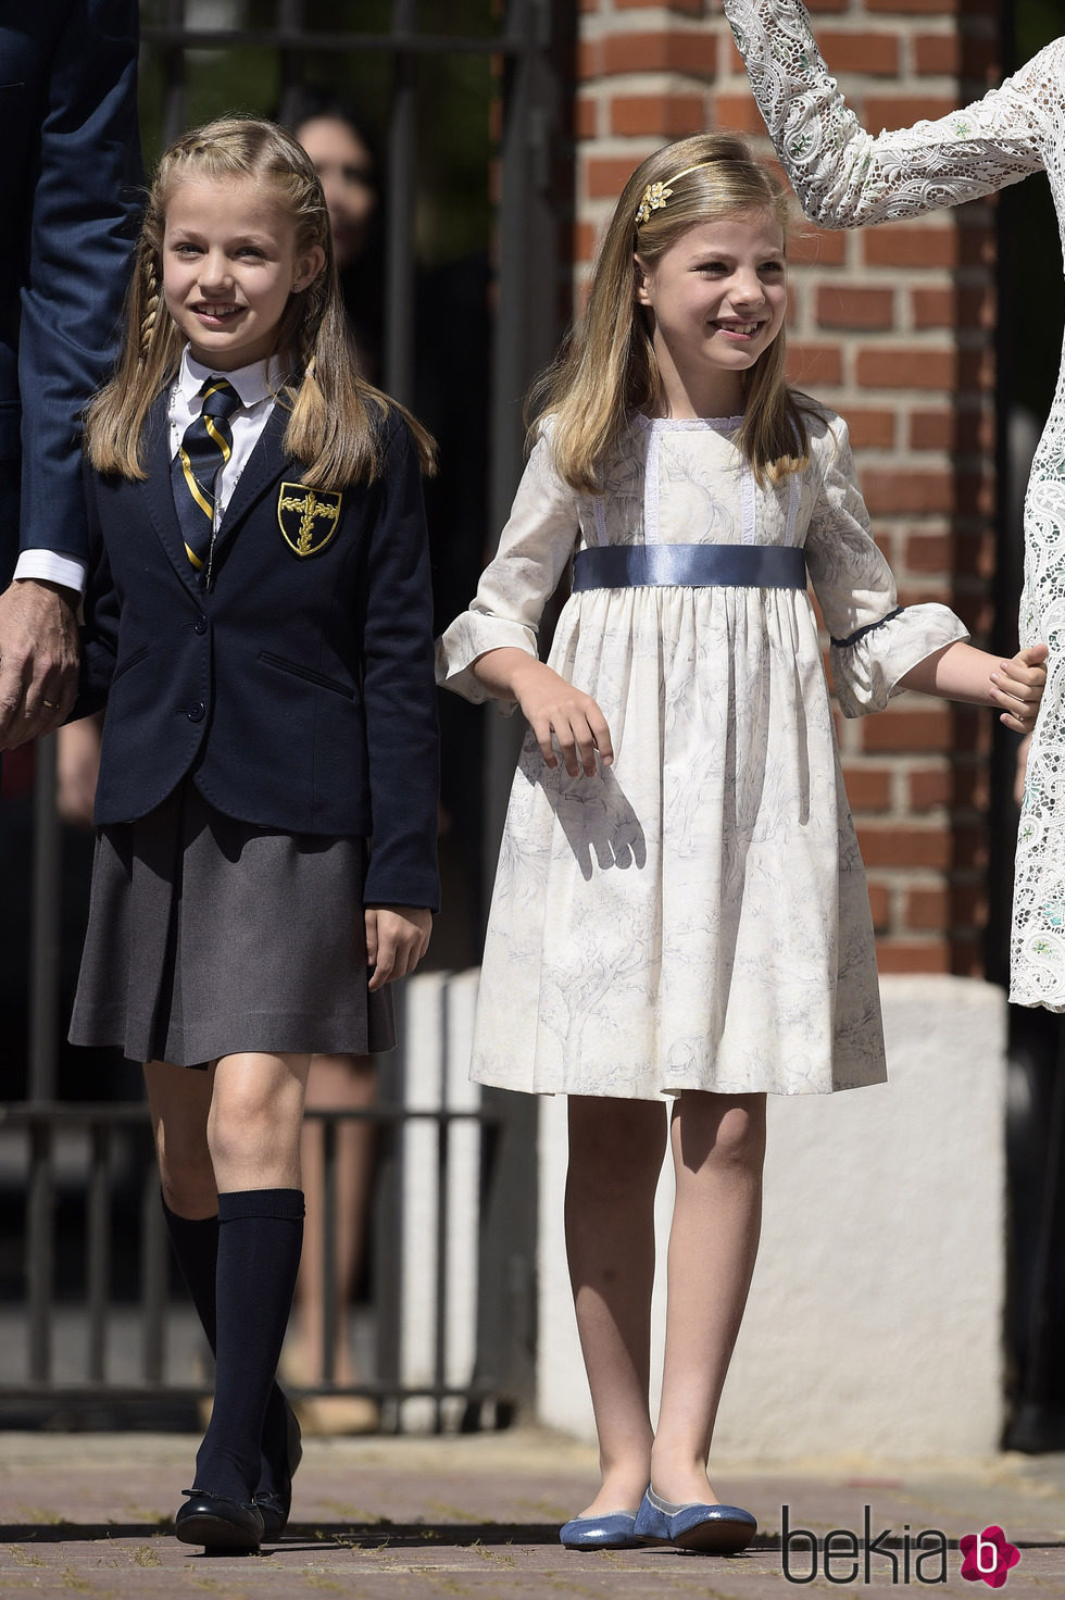
<path id="1" fill-rule="evenodd" d="M 0 587 L 19 546 L 88 555 L 78 416 L 139 211 L 136 59 L 136 0 L 0 13 Z"/>

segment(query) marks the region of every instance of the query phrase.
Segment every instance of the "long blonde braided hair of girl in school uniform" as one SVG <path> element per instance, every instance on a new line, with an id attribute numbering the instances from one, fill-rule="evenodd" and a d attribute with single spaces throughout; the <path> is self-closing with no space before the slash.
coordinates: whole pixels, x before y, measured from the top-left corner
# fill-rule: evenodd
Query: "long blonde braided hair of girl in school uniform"
<path id="1" fill-rule="evenodd" d="M 424 470 L 435 446 L 425 429 L 358 376 L 333 258 L 333 230 L 318 174 L 296 139 L 272 122 L 221 117 L 182 134 L 162 157 L 149 190 L 133 278 L 126 293 L 125 346 L 114 378 L 85 418 L 88 458 L 98 472 L 144 478 L 141 445 L 147 413 L 178 373 L 184 334 L 163 304 L 166 203 L 189 179 L 269 184 L 296 227 L 296 254 L 315 245 L 325 267 L 293 293 L 277 326 L 273 354 L 289 363 L 278 405 L 291 414 L 285 450 L 304 464 L 310 488 L 373 480 L 382 466 L 384 422 L 400 411 Z"/>

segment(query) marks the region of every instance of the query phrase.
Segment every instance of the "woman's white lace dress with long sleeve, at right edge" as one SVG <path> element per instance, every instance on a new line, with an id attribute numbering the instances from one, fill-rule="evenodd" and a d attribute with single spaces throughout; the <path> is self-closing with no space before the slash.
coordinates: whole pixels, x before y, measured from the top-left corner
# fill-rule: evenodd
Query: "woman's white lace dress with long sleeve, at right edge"
<path id="1" fill-rule="evenodd" d="M 800 0 L 724 0 L 803 210 L 857 227 L 974 200 L 1046 170 L 1065 248 L 1065 38 L 937 122 L 872 138 L 822 61 Z M 1051 646 L 1017 843 L 1011 1000 L 1065 1011 L 1065 363 L 1025 501 L 1023 645 Z"/>

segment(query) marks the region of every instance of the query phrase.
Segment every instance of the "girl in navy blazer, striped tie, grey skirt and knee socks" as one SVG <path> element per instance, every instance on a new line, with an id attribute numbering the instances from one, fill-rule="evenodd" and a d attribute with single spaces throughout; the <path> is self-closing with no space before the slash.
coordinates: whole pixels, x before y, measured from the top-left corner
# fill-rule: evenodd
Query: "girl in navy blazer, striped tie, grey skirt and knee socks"
<path id="1" fill-rule="evenodd" d="M 107 718 L 70 1037 L 146 1062 L 216 1352 L 178 1538 L 249 1550 L 299 1461 L 275 1368 L 310 1056 L 390 1048 L 385 986 L 438 893 L 432 442 L 355 371 L 321 186 L 283 130 L 227 118 L 163 155 L 86 453 L 80 706 Z"/>

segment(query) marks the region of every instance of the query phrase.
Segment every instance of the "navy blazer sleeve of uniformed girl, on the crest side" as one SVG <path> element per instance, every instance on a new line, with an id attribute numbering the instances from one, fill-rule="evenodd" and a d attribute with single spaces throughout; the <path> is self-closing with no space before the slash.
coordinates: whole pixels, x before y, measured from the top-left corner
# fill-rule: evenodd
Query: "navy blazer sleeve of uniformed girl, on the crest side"
<path id="1" fill-rule="evenodd" d="M 437 910 L 440 758 L 422 480 L 405 422 L 389 429 L 381 515 L 366 558 L 363 699 L 373 843 L 368 906 Z"/>

